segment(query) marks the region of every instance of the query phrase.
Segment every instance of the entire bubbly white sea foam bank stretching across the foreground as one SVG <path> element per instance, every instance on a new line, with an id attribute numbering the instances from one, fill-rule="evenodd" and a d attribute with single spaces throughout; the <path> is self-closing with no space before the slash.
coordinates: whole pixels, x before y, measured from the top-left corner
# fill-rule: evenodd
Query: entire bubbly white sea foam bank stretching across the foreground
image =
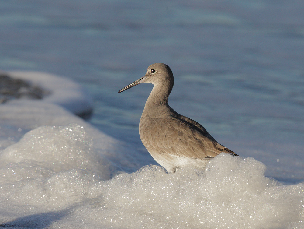
<path id="1" fill-rule="evenodd" d="M 304 183 L 282 185 L 253 158 L 220 154 L 205 171 L 128 174 L 83 126 L 45 126 L 0 154 L 1 224 L 25 228 L 301 228 Z"/>

